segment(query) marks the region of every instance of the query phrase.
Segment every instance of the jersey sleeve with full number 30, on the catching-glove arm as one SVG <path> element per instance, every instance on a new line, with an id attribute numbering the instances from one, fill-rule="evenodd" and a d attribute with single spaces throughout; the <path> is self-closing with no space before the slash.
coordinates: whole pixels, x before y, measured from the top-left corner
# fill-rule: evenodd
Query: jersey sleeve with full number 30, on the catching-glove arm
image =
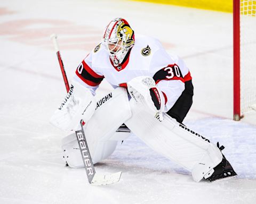
<path id="1" fill-rule="evenodd" d="M 188 67 L 178 56 L 171 56 L 159 49 L 150 64 L 156 86 L 165 96 L 164 112 L 169 111 L 185 90 L 185 82 L 191 80 Z"/>

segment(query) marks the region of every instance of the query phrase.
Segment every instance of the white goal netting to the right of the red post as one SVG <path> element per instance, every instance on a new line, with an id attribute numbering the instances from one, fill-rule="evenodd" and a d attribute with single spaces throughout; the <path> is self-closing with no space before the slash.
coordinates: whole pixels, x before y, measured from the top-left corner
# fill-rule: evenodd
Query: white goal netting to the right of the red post
<path id="1" fill-rule="evenodd" d="M 256 0 L 240 1 L 241 113 L 256 111 Z"/>

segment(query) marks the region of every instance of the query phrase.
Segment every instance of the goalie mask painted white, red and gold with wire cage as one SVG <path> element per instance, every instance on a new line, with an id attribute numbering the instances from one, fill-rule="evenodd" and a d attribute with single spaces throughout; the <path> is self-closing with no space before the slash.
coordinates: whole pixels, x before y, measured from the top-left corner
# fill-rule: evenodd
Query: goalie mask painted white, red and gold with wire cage
<path id="1" fill-rule="evenodd" d="M 134 31 L 126 20 L 117 18 L 107 25 L 102 41 L 114 66 L 118 66 L 134 45 Z"/>

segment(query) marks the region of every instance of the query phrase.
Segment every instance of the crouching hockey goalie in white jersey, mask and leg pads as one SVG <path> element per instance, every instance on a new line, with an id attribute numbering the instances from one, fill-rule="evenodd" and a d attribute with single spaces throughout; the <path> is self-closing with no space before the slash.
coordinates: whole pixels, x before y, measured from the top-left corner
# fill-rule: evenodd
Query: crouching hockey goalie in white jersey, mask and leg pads
<path id="1" fill-rule="evenodd" d="M 96 101 L 103 79 L 114 90 Z M 166 53 L 158 40 L 136 36 L 129 23 L 117 18 L 103 32 L 102 42 L 77 67 L 70 91 L 51 117 L 61 130 L 84 134 L 98 163 L 111 155 L 131 133 L 150 148 L 188 169 L 194 181 L 236 176 L 221 150 L 182 124 L 193 98 L 188 67 Z M 84 167 L 76 135 L 62 140 L 69 167 Z"/>

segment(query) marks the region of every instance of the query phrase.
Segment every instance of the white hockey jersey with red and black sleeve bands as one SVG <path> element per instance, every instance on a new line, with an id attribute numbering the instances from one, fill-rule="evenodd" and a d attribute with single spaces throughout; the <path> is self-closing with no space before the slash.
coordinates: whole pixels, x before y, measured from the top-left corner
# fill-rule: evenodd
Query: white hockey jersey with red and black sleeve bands
<path id="1" fill-rule="evenodd" d="M 165 95 L 165 112 L 182 94 L 184 83 L 191 80 L 188 67 L 178 56 L 167 54 L 158 40 L 146 36 L 135 36 L 135 45 L 119 66 L 114 66 L 105 47 L 99 44 L 77 67 L 75 80 L 95 95 L 104 78 L 116 88 L 139 76 L 155 80 Z"/>

